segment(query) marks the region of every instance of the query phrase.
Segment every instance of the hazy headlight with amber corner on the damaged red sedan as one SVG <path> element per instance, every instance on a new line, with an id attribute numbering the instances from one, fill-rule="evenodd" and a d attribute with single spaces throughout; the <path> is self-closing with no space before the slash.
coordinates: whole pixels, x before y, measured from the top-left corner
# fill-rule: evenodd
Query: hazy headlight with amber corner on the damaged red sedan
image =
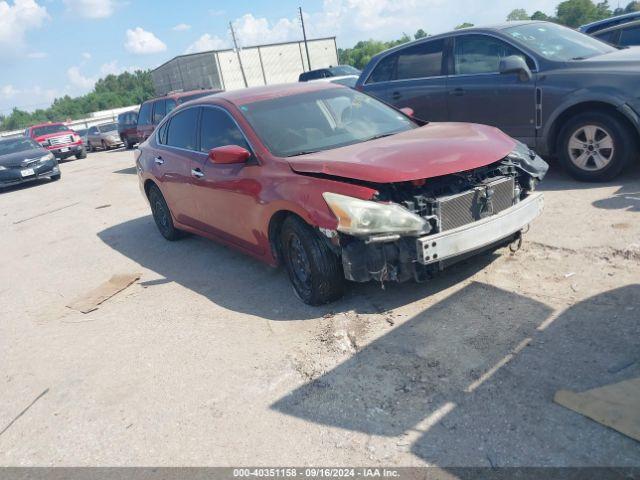
<path id="1" fill-rule="evenodd" d="M 360 200 L 337 193 L 322 194 L 338 219 L 338 231 L 350 235 L 378 233 L 417 234 L 426 221 L 395 203 Z"/>

